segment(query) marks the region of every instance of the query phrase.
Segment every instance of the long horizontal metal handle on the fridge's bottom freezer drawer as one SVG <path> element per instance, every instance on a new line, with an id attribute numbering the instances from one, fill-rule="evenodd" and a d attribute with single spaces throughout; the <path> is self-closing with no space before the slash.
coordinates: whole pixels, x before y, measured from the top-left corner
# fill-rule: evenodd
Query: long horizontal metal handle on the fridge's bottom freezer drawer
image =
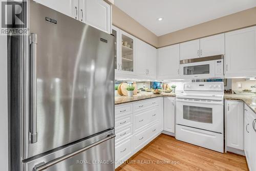
<path id="1" fill-rule="evenodd" d="M 51 167 L 51 166 L 53 166 L 53 165 L 55 165 L 55 164 L 57 164 L 57 163 L 59 163 L 59 162 L 61 162 L 61 161 L 67 160 L 67 159 L 69 159 L 69 158 L 71 158 L 71 157 L 73 157 L 73 156 L 76 156 L 76 155 L 78 155 L 78 154 L 84 152 L 84 151 L 87 151 L 89 148 L 92 148 L 92 147 L 94 147 L 94 146 L 96 146 L 96 145 L 98 145 L 98 144 L 100 144 L 100 143 L 102 143 L 102 142 L 104 142 L 104 141 L 107 141 L 107 140 L 109 140 L 109 139 L 112 139 L 112 138 L 114 138 L 115 136 L 116 136 L 115 134 L 110 134 L 110 135 L 108 135 L 108 137 L 106 137 L 106 138 L 104 138 L 104 139 L 102 139 L 102 140 L 99 140 L 99 141 L 97 141 L 97 142 L 95 142 L 95 143 L 93 143 L 93 144 L 91 144 L 91 145 L 89 145 L 89 146 L 86 146 L 86 147 L 82 148 L 82 149 L 79 149 L 79 150 L 76 151 L 76 152 L 73 152 L 73 153 L 67 154 L 67 155 L 65 155 L 65 156 L 59 157 L 59 158 L 57 158 L 57 159 L 55 159 L 55 160 L 52 160 L 52 161 L 50 161 L 50 162 L 48 162 L 48 163 L 41 163 L 41 164 L 35 165 L 33 171 L 45 170 L 45 169 L 47 169 L 47 168 L 49 168 L 49 167 Z"/>

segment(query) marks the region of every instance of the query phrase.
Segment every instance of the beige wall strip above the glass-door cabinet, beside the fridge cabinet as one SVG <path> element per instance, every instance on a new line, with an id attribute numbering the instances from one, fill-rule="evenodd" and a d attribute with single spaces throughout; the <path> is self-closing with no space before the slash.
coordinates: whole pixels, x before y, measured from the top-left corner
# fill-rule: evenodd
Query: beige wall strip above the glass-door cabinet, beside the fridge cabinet
<path id="1" fill-rule="evenodd" d="M 112 6 L 112 24 L 150 45 L 158 47 L 158 37 L 154 33 L 139 24 L 135 19 L 121 11 L 115 5 Z"/>

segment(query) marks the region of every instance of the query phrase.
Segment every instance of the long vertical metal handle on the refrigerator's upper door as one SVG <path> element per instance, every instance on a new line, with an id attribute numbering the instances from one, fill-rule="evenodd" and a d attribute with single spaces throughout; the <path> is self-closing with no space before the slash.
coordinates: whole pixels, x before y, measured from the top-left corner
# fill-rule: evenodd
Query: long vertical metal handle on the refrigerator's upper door
<path id="1" fill-rule="evenodd" d="M 37 114 L 36 114 L 36 45 L 37 35 L 30 34 L 30 49 L 31 49 L 31 114 L 30 114 L 30 142 L 37 142 Z"/>

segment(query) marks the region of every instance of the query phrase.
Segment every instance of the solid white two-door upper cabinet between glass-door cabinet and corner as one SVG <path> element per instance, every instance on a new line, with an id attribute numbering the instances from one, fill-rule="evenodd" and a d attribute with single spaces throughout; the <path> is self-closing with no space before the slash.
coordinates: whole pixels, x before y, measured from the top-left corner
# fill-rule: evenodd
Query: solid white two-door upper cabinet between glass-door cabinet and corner
<path id="1" fill-rule="evenodd" d="M 156 79 L 157 49 L 136 38 L 136 75 Z"/>

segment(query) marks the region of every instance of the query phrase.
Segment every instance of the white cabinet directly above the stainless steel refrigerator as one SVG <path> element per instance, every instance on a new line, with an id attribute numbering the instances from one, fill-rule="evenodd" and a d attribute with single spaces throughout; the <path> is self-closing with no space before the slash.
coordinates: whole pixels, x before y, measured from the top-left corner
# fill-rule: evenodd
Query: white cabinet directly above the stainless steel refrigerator
<path id="1" fill-rule="evenodd" d="M 111 5 L 103 0 L 34 0 L 58 12 L 111 33 Z"/>

